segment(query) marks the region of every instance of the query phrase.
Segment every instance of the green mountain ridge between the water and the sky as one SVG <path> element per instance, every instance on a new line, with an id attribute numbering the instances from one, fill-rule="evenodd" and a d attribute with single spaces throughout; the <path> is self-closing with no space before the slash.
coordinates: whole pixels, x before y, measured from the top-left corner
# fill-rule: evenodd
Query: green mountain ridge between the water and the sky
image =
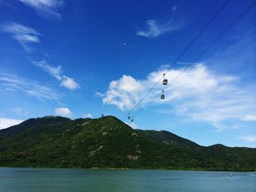
<path id="1" fill-rule="evenodd" d="M 0 130 L 0 166 L 256 171 L 256 149 L 203 147 L 113 116 L 46 116 Z"/>

